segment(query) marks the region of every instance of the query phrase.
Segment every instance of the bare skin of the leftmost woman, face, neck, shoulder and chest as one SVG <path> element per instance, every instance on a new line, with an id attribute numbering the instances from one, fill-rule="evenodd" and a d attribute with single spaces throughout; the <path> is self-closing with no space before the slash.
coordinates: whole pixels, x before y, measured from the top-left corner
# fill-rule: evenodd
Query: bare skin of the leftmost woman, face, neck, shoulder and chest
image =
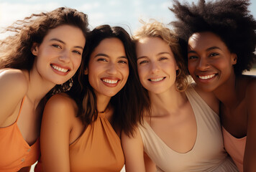
<path id="1" fill-rule="evenodd" d="M 29 145 L 35 143 L 41 123 L 42 107 L 38 106 L 39 102 L 52 87 L 69 80 L 76 73 L 85 41 L 83 32 L 77 27 L 56 27 L 49 30 L 41 44 L 33 44 L 31 52 L 35 55 L 35 62 L 32 70 L 0 70 L 0 128 L 6 128 L 17 120 L 25 97 L 17 125 L 24 140 Z M 52 64 L 69 71 L 56 71 Z M 20 171 L 29 171 L 29 168 Z"/>

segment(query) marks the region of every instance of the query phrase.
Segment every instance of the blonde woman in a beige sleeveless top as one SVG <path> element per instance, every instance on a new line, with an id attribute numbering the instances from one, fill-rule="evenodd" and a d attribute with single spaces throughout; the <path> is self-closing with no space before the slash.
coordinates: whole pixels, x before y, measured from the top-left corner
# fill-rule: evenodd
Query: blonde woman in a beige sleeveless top
<path id="1" fill-rule="evenodd" d="M 224 151 L 219 101 L 188 85 L 178 37 L 152 22 L 134 42 L 147 106 L 134 135 L 122 135 L 126 171 L 237 171 Z"/>

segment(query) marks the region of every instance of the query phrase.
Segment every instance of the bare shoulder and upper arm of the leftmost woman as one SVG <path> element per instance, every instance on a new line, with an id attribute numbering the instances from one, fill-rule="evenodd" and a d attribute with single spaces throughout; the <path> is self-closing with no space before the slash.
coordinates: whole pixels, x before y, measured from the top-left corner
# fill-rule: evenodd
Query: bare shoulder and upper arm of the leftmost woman
<path id="1" fill-rule="evenodd" d="M 26 95 L 27 89 L 27 79 L 21 70 L 0 71 L 0 127 L 6 127 L 15 122 L 18 115 L 17 109 L 19 109 L 17 106 Z M 15 115 L 15 117 L 12 118 L 12 115 Z M 6 121 L 7 118 L 12 119 Z"/>

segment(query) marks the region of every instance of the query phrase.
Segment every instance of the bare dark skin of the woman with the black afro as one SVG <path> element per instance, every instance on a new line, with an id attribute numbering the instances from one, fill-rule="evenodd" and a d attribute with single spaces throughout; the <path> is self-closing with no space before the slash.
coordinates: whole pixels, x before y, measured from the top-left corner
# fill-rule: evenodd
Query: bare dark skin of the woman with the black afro
<path id="1" fill-rule="evenodd" d="M 211 32 L 195 33 L 188 40 L 188 69 L 196 83 L 213 92 L 221 102 L 221 124 L 235 138 L 247 141 L 244 151 L 244 171 L 256 169 L 256 78 L 236 76 L 233 65 L 237 54 Z M 211 75 L 207 80 L 199 76 Z"/>

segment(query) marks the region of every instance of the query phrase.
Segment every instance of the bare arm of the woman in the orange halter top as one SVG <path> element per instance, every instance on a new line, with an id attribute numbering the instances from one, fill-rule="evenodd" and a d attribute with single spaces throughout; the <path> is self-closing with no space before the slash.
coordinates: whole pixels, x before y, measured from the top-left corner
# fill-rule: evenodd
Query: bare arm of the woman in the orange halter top
<path id="1" fill-rule="evenodd" d="M 69 137 L 73 113 L 70 98 L 63 95 L 52 96 L 45 105 L 40 135 L 44 171 L 70 171 Z"/>

